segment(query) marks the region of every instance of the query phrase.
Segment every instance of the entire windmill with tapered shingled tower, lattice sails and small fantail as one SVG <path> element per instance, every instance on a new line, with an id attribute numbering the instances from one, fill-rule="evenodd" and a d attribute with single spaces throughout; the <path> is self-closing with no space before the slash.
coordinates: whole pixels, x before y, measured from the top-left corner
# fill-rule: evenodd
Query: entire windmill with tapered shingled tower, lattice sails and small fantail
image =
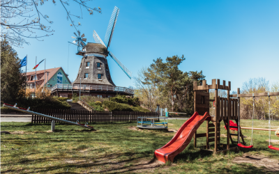
<path id="1" fill-rule="evenodd" d="M 118 58 L 112 54 L 112 52 L 108 51 L 108 47 L 110 47 L 112 42 L 112 35 L 114 33 L 118 14 L 119 8 L 115 7 L 112 12 L 112 17 L 110 18 L 109 26 L 107 27 L 105 42 L 100 39 L 96 31 L 93 31 L 93 38 L 96 41 L 95 43 L 87 42 L 85 44 L 84 42 L 86 39 L 82 37 L 84 35 L 80 36 L 80 33 L 77 35 L 77 37 L 74 37 L 76 40 L 73 44 L 77 44 L 77 55 L 83 57 L 77 73 L 77 78 L 73 84 L 83 84 L 89 86 L 97 85 L 99 86 L 98 88 L 103 88 L 100 86 L 115 86 L 114 82 L 112 81 L 110 68 L 107 62 L 107 56 L 109 55 L 117 63 L 117 65 L 119 65 L 121 70 L 123 70 L 123 72 L 125 72 L 125 74 L 131 79 L 132 72 L 130 72 L 130 70 L 128 70 L 128 68 L 126 68 L 118 60 Z M 82 47 L 82 50 L 79 50 L 80 47 Z M 117 90 L 118 88 L 115 88 L 113 93 L 117 93 Z M 90 93 L 98 93 L 98 89 L 96 88 L 96 91 L 91 91 Z"/>

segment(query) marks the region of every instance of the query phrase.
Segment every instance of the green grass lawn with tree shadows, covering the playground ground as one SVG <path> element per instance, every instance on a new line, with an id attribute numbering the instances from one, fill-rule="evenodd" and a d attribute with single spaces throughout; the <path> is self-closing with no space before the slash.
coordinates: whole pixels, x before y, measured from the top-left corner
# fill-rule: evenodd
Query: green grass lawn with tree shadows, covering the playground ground
<path id="1" fill-rule="evenodd" d="M 169 128 L 179 129 L 186 120 L 169 120 Z M 57 132 L 49 125 L 26 122 L 1 122 L 1 173 L 269 173 L 264 167 L 235 164 L 234 157 L 243 153 L 279 159 L 279 151 L 268 148 L 267 131 L 254 131 L 255 148 L 213 155 L 193 148 L 193 140 L 186 150 L 174 158 L 174 163 L 161 164 L 154 159 L 154 150 L 165 145 L 174 132 L 137 131 L 128 129 L 131 123 L 94 124 L 92 132 L 73 125 L 56 124 Z M 221 122 L 223 125 L 223 122 Z M 255 120 L 255 127 L 268 128 L 268 121 Z M 273 129 L 279 126 L 272 122 Z M 198 133 L 206 131 L 206 125 Z M 241 120 L 241 126 L 251 127 L 251 120 Z M 250 144 L 250 130 L 243 130 Z M 221 134 L 225 129 L 221 128 Z M 279 140 L 272 133 L 272 139 Z M 226 137 L 221 138 L 226 142 Z M 197 145 L 205 145 L 199 138 Z M 273 143 L 279 147 L 279 143 Z M 272 172 L 270 172 L 272 173 Z"/>

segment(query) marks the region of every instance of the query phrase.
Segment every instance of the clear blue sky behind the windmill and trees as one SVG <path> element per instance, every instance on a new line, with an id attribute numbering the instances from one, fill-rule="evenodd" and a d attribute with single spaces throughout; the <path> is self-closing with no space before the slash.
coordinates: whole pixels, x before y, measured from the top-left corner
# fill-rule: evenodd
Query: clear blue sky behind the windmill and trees
<path id="1" fill-rule="evenodd" d="M 29 40 L 31 45 L 15 48 L 20 58 L 28 54 L 27 72 L 43 58 L 46 68 L 62 67 L 75 80 L 82 56 L 69 45 L 75 29 L 70 27 L 66 12 L 57 1 L 40 6 L 50 16 L 54 35 L 44 41 Z M 202 70 L 211 79 L 232 81 L 232 90 L 241 88 L 250 78 L 265 77 L 279 81 L 279 1 L 99 1 L 87 3 L 100 7 L 103 13 L 75 19 L 82 26 L 87 42 L 93 41 L 93 30 L 104 40 L 114 6 L 120 9 L 110 51 L 137 76 L 138 70 L 153 59 L 182 54 L 180 65 L 185 71 Z M 74 2 L 71 13 L 81 15 Z M 51 9 L 51 10 L 50 10 Z M 108 58 L 116 86 L 134 85 L 112 58 Z M 43 70 L 40 65 L 38 70 Z"/>

